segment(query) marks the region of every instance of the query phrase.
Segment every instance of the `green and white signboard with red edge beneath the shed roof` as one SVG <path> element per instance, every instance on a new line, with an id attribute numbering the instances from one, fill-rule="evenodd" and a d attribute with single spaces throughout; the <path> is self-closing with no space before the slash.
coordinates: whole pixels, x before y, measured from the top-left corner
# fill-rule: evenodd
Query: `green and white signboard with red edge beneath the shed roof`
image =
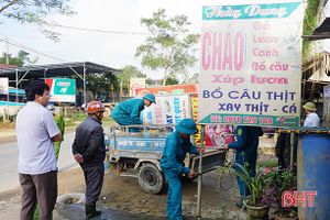
<path id="1" fill-rule="evenodd" d="M 76 79 L 48 78 L 45 82 L 51 89 L 52 102 L 76 102 Z"/>

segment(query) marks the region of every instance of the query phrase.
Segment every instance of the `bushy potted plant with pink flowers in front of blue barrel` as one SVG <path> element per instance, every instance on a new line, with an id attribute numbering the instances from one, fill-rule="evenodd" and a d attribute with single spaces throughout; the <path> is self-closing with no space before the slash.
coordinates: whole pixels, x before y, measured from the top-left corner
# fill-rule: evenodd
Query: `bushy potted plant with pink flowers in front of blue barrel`
<path id="1" fill-rule="evenodd" d="M 268 169 L 265 184 L 266 193 L 263 197 L 263 202 L 270 206 L 275 205 L 275 220 L 295 220 L 298 219 L 296 207 L 283 207 L 282 195 L 284 191 L 294 191 L 297 187 L 296 175 L 288 169 Z"/>

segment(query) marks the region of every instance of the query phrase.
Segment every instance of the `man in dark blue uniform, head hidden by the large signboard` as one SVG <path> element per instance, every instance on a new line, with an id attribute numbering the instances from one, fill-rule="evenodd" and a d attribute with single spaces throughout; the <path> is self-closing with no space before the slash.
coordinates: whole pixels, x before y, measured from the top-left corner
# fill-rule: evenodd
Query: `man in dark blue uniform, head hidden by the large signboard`
<path id="1" fill-rule="evenodd" d="M 237 141 L 229 143 L 224 148 L 235 150 L 235 163 L 242 166 L 248 166 L 250 176 L 255 176 L 255 164 L 257 157 L 258 138 L 263 135 L 260 127 L 243 127 L 238 125 L 235 131 Z M 241 169 L 235 166 L 237 172 Z M 244 182 L 238 176 L 241 199 L 237 204 L 238 207 L 243 207 L 243 199 L 250 195 L 250 191 Z"/>

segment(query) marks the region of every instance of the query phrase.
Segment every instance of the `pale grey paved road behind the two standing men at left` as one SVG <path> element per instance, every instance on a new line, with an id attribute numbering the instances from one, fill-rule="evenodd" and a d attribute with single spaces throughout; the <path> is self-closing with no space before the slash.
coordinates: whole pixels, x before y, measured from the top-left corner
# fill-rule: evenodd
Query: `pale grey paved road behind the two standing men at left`
<path id="1" fill-rule="evenodd" d="M 78 166 L 72 156 L 73 141 L 74 133 L 65 134 L 57 163 L 59 172 Z M 19 186 L 18 157 L 16 142 L 0 144 L 0 193 Z"/>

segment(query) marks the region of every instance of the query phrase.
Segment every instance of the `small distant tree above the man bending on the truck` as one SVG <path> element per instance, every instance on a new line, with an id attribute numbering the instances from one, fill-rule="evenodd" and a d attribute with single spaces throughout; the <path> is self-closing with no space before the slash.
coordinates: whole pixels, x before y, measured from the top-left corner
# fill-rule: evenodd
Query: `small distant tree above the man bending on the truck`
<path id="1" fill-rule="evenodd" d="M 122 73 L 118 76 L 118 81 L 122 80 L 122 89 L 125 94 L 130 91 L 130 80 L 132 77 L 146 78 L 146 75 L 143 74 L 138 67 L 128 65 L 122 68 Z"/>

